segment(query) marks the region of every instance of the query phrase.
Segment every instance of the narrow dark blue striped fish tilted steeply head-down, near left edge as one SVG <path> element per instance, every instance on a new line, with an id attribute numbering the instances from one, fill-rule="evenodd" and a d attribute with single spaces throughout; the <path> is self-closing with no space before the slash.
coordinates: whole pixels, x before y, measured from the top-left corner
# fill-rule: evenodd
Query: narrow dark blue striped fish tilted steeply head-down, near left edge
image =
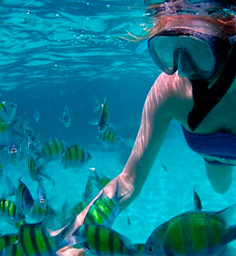
<path id="1" fill-rule="evenodd" d="M 20 202 L 20 206 L 24 210 L 25 214 L 29 214 L 33 211 L 34 199 L 26 184 L 24 184 L 20 179 L 18 181 L 19 184 L 16 191 L 17 200 Z"/>

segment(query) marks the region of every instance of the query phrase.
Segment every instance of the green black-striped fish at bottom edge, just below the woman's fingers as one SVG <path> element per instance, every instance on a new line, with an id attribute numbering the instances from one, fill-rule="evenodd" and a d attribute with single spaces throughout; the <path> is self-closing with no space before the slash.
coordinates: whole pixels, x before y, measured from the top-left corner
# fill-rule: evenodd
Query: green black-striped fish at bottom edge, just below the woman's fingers
<path id="1" fill-rule="evenodd" d="M 82 225 L 73 233 L 79 245 L 93 255 L 136 255 L 131 241 L 103 225 Z"/>

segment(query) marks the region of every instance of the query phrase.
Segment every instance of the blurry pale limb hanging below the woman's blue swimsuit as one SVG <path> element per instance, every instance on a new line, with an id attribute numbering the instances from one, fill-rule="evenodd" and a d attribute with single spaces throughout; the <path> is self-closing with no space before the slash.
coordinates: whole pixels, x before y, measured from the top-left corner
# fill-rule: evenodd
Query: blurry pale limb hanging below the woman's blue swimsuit
<path id="1" fill-rule="evenodd" d="M 232 183 L 231 165 L 212 165 L 205 161 L 207 177 L 212 188 L 219 194 L 225 194 Z"/>

